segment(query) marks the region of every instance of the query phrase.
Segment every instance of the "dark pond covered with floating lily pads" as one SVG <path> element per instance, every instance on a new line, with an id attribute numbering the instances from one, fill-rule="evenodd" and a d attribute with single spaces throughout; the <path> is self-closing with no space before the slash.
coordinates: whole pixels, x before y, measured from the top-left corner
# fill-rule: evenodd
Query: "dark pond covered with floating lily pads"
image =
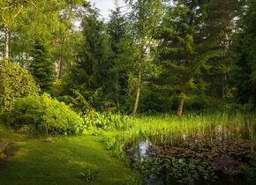
<path id="1" fill-rule="evenodd" d="M 244 185 L 243 168 L 255 158 L 255 143 L 245 131 L 216 127 L 203 135 L 139 138 L 125 151 L 147 185 Z"/>

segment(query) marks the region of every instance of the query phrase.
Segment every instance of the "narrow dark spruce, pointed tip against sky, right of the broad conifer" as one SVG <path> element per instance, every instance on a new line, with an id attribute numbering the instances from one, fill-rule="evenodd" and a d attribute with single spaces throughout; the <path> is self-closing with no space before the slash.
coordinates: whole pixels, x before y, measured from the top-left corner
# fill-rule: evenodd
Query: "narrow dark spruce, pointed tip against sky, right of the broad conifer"
<path id="1" fill-rule="evenodd" d="M 122 15 L 121 7 L 115 2 L 116 8 L 111 11 L 110 20 L 108 23 L 109 44 L 111 48 L 111 70 L 113 101 L 117 105 L 118 110 L 124 107 L 124 102 L 128 91 L 128 68 L 124 58 L 121 55 L 125 52 L 120 45 L 129 37 L 127 33 L 127 21 Z"/>

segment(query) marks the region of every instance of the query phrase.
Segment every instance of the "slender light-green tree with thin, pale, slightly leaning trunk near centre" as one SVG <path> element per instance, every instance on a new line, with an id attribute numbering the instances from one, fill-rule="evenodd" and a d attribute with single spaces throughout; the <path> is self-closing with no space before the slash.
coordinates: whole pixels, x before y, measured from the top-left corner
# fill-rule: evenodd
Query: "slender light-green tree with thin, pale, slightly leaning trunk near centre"
<path id="1" fill-rule="evenodd" d="M 124 1 L 131 9 L 129 13 L 129 36 L 122 38 L 118 48 L 120 49 L 117 66 L 123 67 L 123 80 L 125 84 L 126 106 L 136 114 L 139 107 L 141 86 L 145 77 L 151 76 L 154 71 L 152 63 L 154 55 L 149 50 L 155 47 L 154 31 L 162 18 L 162 2 L 154 1 Z M 122 71 L 122 70 L 121 70 Z M 128 84 L 128 85 L 127 85 Z M 132 102 L 133 101 L 133 106 Z"/>

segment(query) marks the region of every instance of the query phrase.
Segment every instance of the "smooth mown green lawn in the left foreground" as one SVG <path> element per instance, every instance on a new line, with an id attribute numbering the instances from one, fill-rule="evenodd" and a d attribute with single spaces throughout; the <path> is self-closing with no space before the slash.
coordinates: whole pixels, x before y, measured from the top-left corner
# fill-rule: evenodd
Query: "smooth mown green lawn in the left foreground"
<path id="1" fill-rule="evenodd" d="M 11 144 L 15 156 L 0 170 L 1 185 L 91 184 L 79 173 L 99 171 L 94 184 L 120 185 L 135 174 L 112 158 L 100 137 L 56 138 L 47 143 L 33 139 Z"/>

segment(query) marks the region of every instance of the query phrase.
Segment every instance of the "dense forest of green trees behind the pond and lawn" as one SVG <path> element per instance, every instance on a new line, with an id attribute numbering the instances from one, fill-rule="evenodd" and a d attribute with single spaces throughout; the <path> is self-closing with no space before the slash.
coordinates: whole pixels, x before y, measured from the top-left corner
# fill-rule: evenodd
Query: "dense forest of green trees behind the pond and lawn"
<path id="1" fill-rule="evenodd" d="M 106 21 L 85 0 L 1 0 L 1 111 L 36 93 L 79 112 L 256 107 L 255 0 L 125 3 Z"/>

